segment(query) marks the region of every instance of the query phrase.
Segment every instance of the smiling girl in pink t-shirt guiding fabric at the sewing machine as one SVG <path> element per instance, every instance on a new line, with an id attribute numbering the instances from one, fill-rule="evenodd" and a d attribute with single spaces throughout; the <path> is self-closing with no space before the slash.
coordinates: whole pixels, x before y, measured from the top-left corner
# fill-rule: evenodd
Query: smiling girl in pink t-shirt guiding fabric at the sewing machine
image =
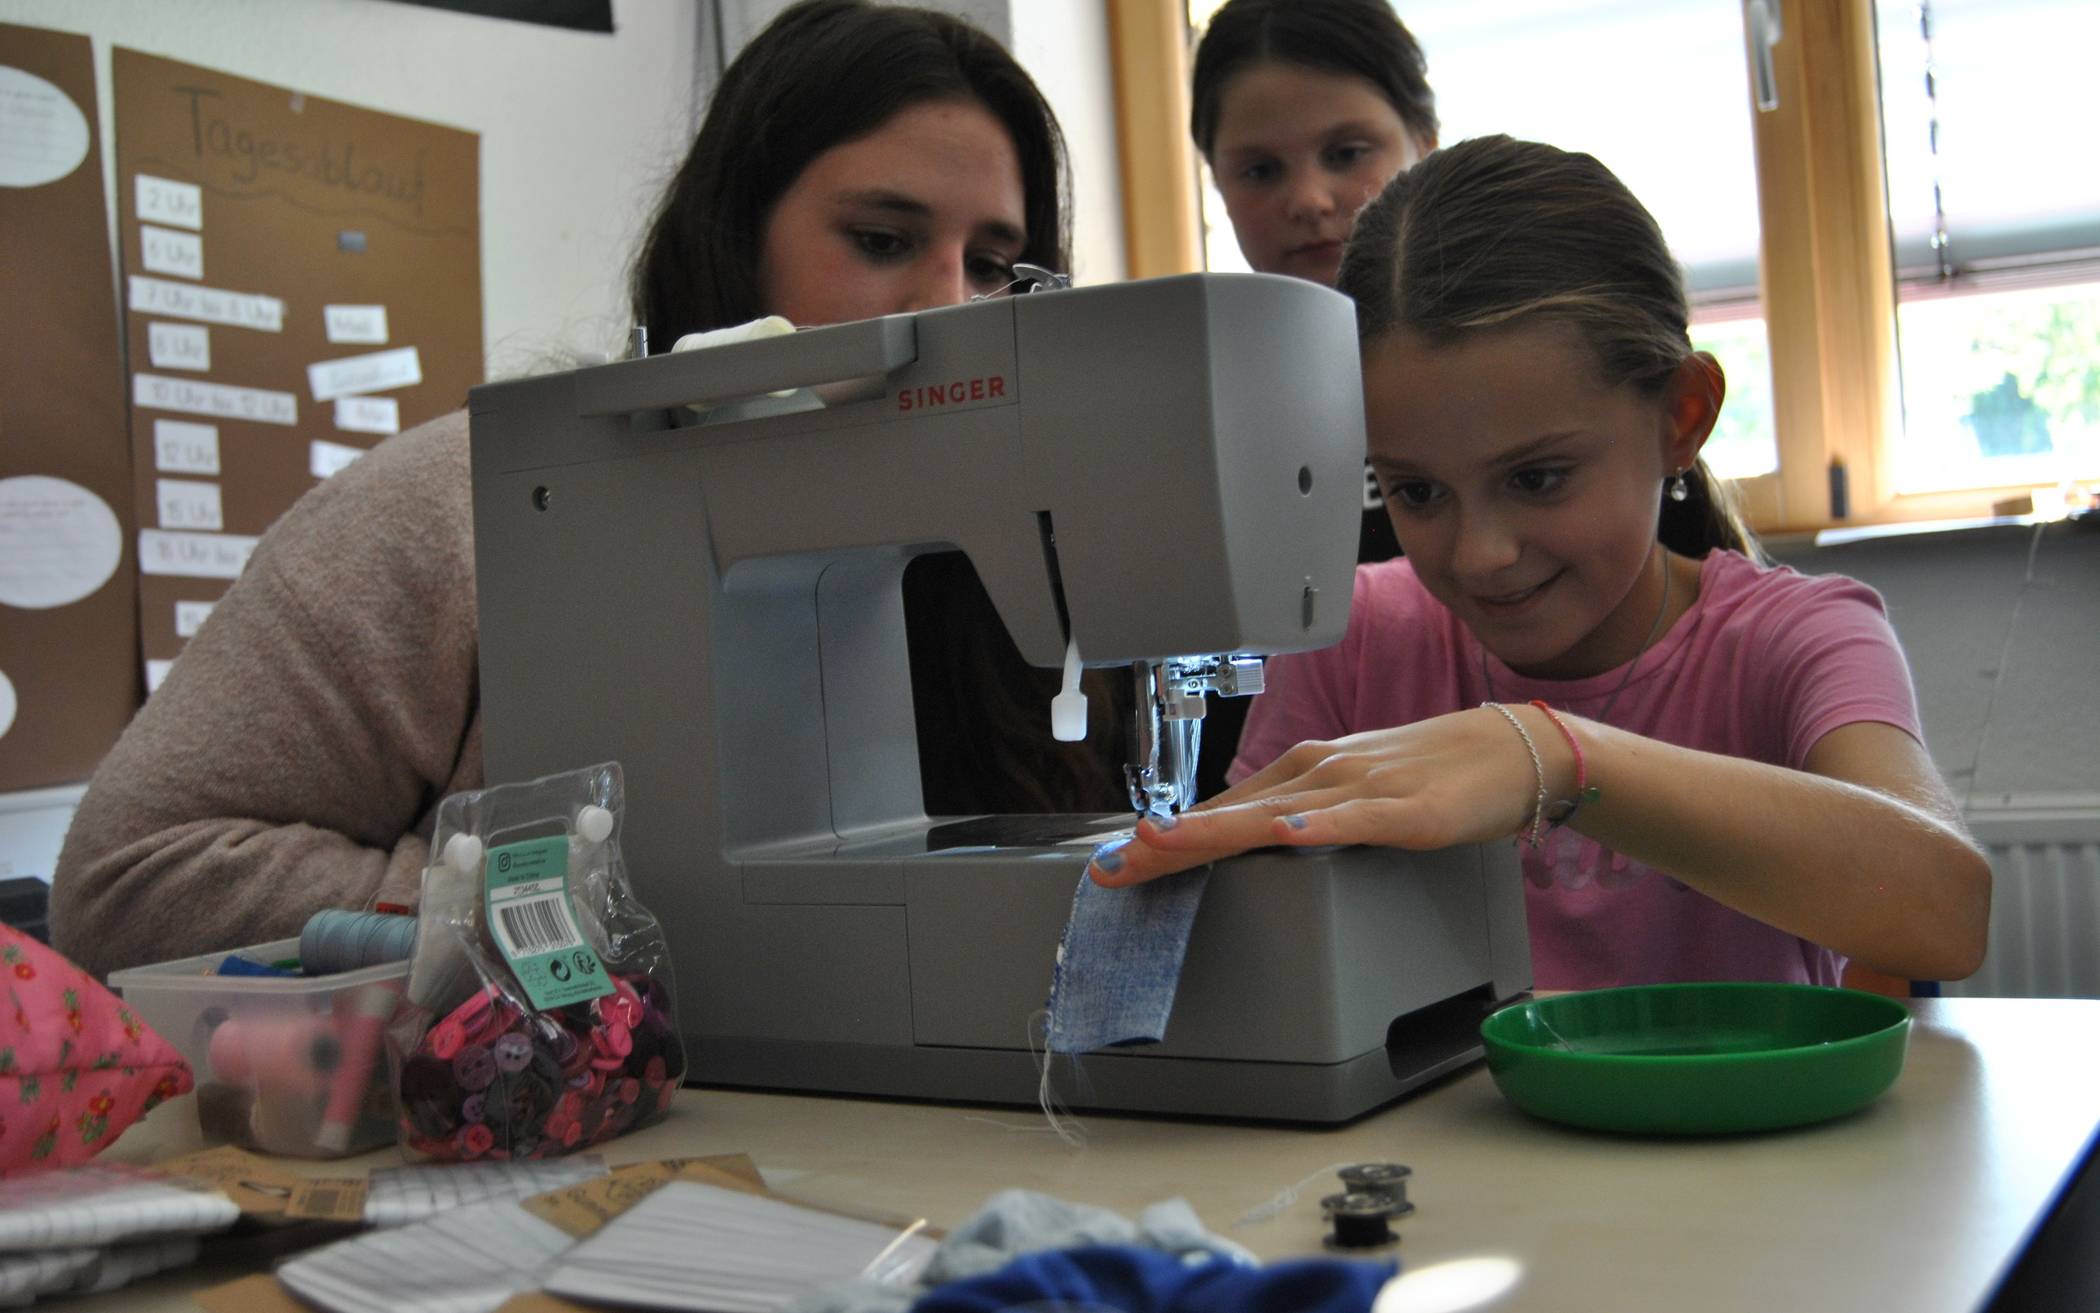
<path id="1" fill-rule="evenodd" d="M 1699 460 L 1722 372 L 1640 202 L 1466 141 L 1359 214 L 1340 288 L 1405 559 L 1359 571 L 1338 647 L 1273 664 L 1237 784 L 1094 880 L 1516 834 L 1541 987 L 1970 975 L 1991 870 L 1880 599 L 1751 559 Z"/>

